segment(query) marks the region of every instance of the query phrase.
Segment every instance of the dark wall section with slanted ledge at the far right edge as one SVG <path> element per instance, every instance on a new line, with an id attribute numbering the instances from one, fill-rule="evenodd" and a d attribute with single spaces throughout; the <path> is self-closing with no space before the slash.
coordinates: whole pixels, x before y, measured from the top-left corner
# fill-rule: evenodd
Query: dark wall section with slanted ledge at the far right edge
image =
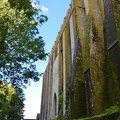
<path id="1" fill-rule="evenodd" d="M 120 104 L 120 3 L 103 0 L 109 64 L 107 69 L 109 106 Z"/>

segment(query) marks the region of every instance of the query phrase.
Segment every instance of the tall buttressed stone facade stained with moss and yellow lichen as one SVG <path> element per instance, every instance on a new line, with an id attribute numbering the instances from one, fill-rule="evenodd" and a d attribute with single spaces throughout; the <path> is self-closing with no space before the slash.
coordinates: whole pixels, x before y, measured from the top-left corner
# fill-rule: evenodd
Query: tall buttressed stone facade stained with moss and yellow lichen
<path id="1" fill-rule="evenodd" d="M 120 2 L 72 0 L 43 76 L 41 120 L 120 105 Z"/>

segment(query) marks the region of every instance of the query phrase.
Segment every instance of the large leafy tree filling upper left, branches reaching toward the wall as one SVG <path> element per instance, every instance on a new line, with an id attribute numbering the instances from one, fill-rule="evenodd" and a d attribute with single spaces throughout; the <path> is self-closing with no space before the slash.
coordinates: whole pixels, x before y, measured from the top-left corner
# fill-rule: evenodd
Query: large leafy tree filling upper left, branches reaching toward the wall
<path id="1" fill-rule="evenodd" d="M 0 80 L 13 86 L 38 81 L 35 61 L 45 60 L 39 26 L 47 17 L 30 0 L 0 1 Z"/>

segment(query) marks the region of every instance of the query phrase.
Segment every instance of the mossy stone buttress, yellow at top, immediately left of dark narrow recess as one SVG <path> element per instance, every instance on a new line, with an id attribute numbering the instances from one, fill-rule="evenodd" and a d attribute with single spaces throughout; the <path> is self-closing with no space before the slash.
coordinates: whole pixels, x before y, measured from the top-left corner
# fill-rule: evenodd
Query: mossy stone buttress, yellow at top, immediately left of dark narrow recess
<path id="1" fill-rule="evenodd" d="M 72 66 L 73 97 L 71 98 L 71 119 L 78 119 L 86 115 L 85 83 L 83 76 L 86 14 L 83 0 L 73 0 L 76 31 L 74 41 L 74 58 Z"/>

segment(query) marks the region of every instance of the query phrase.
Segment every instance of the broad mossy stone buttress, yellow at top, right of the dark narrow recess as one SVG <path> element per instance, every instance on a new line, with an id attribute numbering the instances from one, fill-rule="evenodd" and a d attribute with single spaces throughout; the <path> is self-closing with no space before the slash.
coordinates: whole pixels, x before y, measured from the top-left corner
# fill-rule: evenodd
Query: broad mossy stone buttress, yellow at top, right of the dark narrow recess
<path id="1" fill-rule="evenodd" d="M 104 104 L 105 44 L 103 34 L 103 17 L 97 0 L 88 1 L 88 6 L 92 17 L 90 30 L 90 73 L 93 91 L 93 104 L 95 114 L 99 114 L 106 108 Z"/>

